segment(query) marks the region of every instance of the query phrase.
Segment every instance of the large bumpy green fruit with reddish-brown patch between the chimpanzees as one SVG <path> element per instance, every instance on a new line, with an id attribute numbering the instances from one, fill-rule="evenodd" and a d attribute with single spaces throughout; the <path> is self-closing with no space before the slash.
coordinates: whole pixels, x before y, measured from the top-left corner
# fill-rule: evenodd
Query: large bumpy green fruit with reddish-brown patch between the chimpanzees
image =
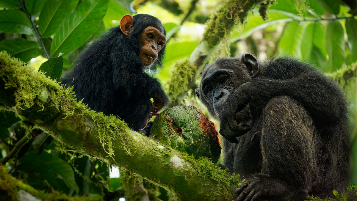
<path id="1" fill-rule="evenodd" d="M 194 106 L 174 106 L 161 112 L 151 127 L 150 137 L 177 151 L 217 162 L 221 142 L 212 121 Z"/>

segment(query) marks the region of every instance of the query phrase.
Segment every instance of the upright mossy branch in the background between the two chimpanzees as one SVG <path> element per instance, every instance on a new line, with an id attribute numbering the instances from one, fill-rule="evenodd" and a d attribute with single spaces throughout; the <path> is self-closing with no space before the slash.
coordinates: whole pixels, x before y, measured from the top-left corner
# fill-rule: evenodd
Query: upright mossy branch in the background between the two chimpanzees
<path id="1" fill-rule="evenodd" d="M 169 85 L 178 85 L 178 86 L 169 86 L 169 89 L 175 87 L 182 88 L 183 90 L 177 94 L 177 91 L 169 90 L 169 98 L 171 99 L 171 106 L 180 105 L 183 98 L 187 94 L 188 90 L 191 89 L 195 84 L 197 77 L 200 75 L 200 72 L 203 69 L 203 66 L 207 63 L 211 55 L 216 51 L 220 42 L 227 40 L 231 34 L 233 27 L 237 29 L 243 29 L 244 22 L 251 12 L 251 10 L 258 4 L 261 0 L 224 0 L 214 14 L 207 21 L 207 28 L 203 33 L 203 38 L 200 44 L 192 52 L 190 56 L 190 65 L 191 69 L 195 72 L 195 75 L 188 81 L 186 80 L 182 83 L 174 82 Z M 174 71 L 180 71 L 182 67 L 187 68 L 187 65 L 176 65 Z M 191 73 L 191 72 L 190 72 Z M 183 75 L 185 79 L 186 75 Z M 176 79 L 176 77 L 175 77 Z"/>

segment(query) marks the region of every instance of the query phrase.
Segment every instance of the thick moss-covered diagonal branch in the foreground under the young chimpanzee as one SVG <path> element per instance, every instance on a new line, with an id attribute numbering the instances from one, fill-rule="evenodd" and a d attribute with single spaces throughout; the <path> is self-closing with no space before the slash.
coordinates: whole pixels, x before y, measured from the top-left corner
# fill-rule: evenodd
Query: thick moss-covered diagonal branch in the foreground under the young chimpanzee
<path id="1" fill-rule="evenodd" d="M 129 130 L 116 116 L 87 109 L 75 100 L 72 89 L 64 89 L 4 51 L 0 52 L 0 109 L 16 112 L 29 130 L 44 130 L 65 151 L 130 170 L 180 200 L 232 200 L 240 183 L 238 176 L 206 158 L 195 160 Z"/>

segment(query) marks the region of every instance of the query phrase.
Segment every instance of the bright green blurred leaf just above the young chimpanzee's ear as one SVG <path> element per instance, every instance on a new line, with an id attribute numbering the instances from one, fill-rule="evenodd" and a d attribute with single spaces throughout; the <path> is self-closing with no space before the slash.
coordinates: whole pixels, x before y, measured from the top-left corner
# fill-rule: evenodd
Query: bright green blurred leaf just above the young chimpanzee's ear
<path id="1" fill-rule="evenodd" d="M 104 26 L 109 28 L 119 25 L 121 17 L 126 14 L 130 14 L 130 12 L 125 10 L 118 2 L 110 0 L 107 13 L 103 18 Z"/>

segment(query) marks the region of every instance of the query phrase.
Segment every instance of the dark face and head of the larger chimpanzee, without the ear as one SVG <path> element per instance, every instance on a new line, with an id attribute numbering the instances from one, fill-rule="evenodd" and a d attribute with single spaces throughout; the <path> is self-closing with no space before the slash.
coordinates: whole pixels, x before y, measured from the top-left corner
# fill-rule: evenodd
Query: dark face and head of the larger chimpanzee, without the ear
<path id="1" fill-rule="evenodd" d="M 237 58 L 220 58 L 205 67 L 201 73 L 201 83 L 196 94 L 210 114 L 219 119 L 218 114 L 229 101 L 232 93 L 251 76 L 245 65 Z"/>

